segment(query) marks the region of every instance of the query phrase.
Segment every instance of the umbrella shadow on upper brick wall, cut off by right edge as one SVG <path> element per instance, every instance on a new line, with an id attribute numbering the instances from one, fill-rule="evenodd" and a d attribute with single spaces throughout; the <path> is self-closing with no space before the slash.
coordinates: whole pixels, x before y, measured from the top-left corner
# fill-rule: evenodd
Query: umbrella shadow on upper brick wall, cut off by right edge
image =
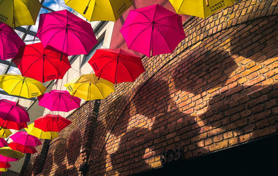
<path id="1" fill-rule="evenodd" d="M 231 53 L 256 62 L 277 57 L 277 19 L 277 16 L 263 17 L 234 27 L 230 35 Z"/>

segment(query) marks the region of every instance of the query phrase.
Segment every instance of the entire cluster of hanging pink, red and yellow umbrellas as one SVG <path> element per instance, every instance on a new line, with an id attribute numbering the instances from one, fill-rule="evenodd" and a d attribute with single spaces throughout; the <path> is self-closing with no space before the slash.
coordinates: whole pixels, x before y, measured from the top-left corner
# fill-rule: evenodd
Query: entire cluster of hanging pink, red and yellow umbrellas
<path id="1" fill-rule="evenodd" d="M 206 18 L 232 5 L 236 0 L 170 0 L 179 14 Z M 88 61 L 95 73 L 67 82 L 67 91 L 52 90 L 44 94 L 42 82 L 63 79 L 71 68 L 70 55 L 87 55 L 97 44 L 90 23 L 68 10 L 40 15 L 37 44 L 24 44 L 13 28 L 35 23 L 41 4 L 38 0 L 3 0 L 0 3 L 0 59 L 13 58 L 22 75 L 0 76 L 0 88 L 8 94 L 25 98 L 38 97 L 39 105 L 50 111 L 69 112 L 80 106 L 81 99 L 104 99 L 114 85 L 133 82 L 145 71 L 141 59 L 122 49 L 98 49 Z M 130 0 L 65 0 L 89 21 L 117 21 L 132 6 Z M 120 32 L 129 49 L 151 57 L 172 53 L 186 35 L 181 16 L 158 4 L 131 10 Z M 9 129 L 22 130 L 0 141 L 0 170 L 24 153 L 36 152 L 39 139 L 54 139 L 70 121 L 60 115 L 47 114 L 31 123 L 28 112 L 19 101 L 0 100 L 0 137 L 7 138 Z"/>

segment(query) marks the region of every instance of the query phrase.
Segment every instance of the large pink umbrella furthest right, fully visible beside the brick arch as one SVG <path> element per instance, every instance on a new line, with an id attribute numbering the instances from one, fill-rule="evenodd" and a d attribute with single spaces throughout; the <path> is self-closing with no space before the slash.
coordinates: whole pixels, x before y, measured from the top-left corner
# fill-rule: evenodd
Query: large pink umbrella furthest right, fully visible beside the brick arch
<path id="1" fill-rule="evenodd" d="M 129 49 L 148 57 L 172 53 L 186 37 L 181 16 L 158 4 L 131 10 L 120 31 Z"/>

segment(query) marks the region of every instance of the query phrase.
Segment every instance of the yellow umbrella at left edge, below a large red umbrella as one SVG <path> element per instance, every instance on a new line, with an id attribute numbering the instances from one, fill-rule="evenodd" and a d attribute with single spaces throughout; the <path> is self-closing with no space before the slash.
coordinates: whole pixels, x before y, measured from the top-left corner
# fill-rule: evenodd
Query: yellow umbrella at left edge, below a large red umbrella
<path id="1" fill-rule="evenodd" d="M 0 76 L 0 88 L 8 94 L 32 98 L 44 94 L 45 87 L 42 82 L 25 76 L 6 74 Z"/>

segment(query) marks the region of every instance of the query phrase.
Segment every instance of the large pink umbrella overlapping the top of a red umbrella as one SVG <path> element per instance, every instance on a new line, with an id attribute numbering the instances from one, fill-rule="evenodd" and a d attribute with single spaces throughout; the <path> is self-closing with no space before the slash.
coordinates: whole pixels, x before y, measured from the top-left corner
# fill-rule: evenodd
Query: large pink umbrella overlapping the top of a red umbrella
<path id="1" fill-rule="evenodd" d="M 40 15 L 37 37 L 66 55 L 88 54 L 97 44 L 92 26 L 68 10 Z"/>

